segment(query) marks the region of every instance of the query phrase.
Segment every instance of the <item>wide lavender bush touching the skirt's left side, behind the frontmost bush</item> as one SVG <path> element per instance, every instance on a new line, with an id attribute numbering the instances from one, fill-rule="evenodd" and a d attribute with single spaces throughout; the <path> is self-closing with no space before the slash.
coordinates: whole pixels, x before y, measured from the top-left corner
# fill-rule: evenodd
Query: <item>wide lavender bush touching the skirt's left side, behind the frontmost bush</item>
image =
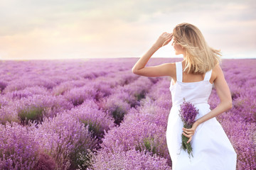
<path id="1" fill-rule="evenodd" d="M 147 150 L 152 154 L 162 157 L 168 154 L 164 128 L 154 123 L 137 118 L 129 123 L 122 123 L 119 127 L 112 128 L 102 140 L 102 147 L 112 149 L 114 143 L 119 141 L 119 147 L 124 150 Z"/>

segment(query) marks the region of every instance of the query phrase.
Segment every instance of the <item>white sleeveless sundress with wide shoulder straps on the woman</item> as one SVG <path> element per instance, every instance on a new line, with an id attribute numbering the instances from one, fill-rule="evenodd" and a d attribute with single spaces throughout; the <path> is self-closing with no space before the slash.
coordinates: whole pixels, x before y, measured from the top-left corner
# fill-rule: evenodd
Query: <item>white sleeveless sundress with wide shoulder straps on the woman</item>
<path id="1" fill-rule="evenodd" d="M 235 170 L 237 154 L 216 118 L 201 123 L 191 140 L 193 157 L 181 149 L 183 122 L 179 117 L 183 98 L 199 109 L 196 120 L 210 112 L 208 98 L 213 88 L 210 84 L 212 70 L 206 72 L 203 81 L 182 82 L 182 64 L 176 62 L 176 84 L 171 80 L 172 107 L 166 129 L 166 142 L 173 170 Z"/>

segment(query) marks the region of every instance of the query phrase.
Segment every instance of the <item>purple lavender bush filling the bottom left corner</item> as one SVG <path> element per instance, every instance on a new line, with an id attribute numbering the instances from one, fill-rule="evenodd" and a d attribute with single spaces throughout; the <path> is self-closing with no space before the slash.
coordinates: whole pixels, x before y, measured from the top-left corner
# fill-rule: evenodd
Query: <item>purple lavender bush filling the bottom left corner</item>
<path id="1" fill-rule="evenodd" d="M 0 169 L 35 169 L 39 140 L 18 123 L 0 125 Z"/>

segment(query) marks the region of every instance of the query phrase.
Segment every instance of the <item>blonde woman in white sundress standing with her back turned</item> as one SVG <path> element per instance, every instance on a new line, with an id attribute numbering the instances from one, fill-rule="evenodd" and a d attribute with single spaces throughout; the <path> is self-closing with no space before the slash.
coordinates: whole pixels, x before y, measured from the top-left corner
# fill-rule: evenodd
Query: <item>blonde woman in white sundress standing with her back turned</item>
<path id="1" fill-rule="evenodd" d="M 171 40 L 176 55 L 182 62 L 145 67 L 149 58 Z M 189 23 L 178 24 L 173 33 L 162 33 L 158 40 L 132 68 L 134 74 L 145 77 L 171 77 L 172 107 L 166 130 L 166 141 L 173 170 L 220 169 L 234 170 L 237 154 L 215 116 L 232 108 L 230 89 L 219 65 L 220 52 L 208 47 L 201 31 Z M 208 98 L 213 83 L 220 103 L 212 111 Z M 196 122 L 191 129 L 183 128 L 178 116 L 180 105 L 186 98 L 198 108 Z M 193 157 L 181 149 L 181 134 L 189 138 Z"/>

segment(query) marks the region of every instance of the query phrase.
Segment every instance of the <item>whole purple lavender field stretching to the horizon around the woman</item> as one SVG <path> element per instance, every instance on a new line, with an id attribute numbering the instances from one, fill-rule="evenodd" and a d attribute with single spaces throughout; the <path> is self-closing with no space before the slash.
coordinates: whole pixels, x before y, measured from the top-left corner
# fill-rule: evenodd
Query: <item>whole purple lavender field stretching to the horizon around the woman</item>
<path id="1" fill-rule="evenodd" d="M 137 60 L 0 61 L 0 169 L 171 169 L 171 79 L 133 74 Z M 239 170 L 256 169 L 255 66 L 221 64 L 233 108 L 217 119 Z M 208 102 L 218 105 L 214 88 Z"/>

